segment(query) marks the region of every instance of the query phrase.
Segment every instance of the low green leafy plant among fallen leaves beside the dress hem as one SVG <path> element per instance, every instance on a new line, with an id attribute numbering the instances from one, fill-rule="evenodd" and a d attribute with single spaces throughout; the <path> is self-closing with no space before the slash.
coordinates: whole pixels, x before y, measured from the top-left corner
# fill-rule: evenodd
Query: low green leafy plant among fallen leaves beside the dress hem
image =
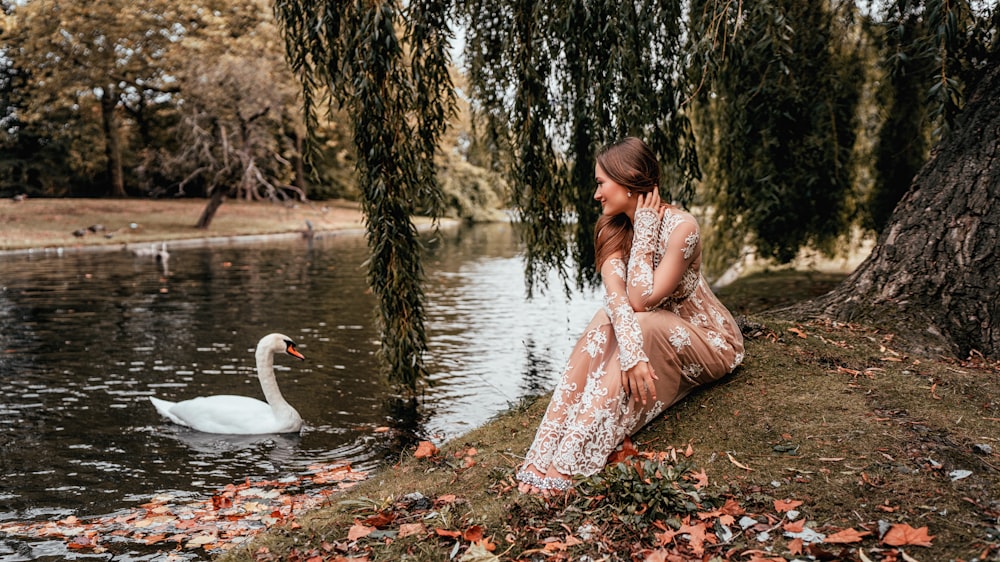
<path id="1" fill-rule="evenodd" d="M 633 527 L 704 511 L 711 498 L 695 487 L 693 470 L 690 463 L 649 459 L 610 464 L 576 484 L 574 505 L 584 512 L 614 513 Z"/>

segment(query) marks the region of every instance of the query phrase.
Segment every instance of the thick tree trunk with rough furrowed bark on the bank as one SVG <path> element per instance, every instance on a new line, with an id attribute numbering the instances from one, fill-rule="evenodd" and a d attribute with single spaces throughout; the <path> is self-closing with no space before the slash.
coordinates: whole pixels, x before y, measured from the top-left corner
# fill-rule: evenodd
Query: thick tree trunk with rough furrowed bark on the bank
<path id="1" fill-rule="evenodd" d="M 892 330 L 911 352 L 1000 357 L 1000 65 L 969 97 L 872 254 L 793 314 Z"/>

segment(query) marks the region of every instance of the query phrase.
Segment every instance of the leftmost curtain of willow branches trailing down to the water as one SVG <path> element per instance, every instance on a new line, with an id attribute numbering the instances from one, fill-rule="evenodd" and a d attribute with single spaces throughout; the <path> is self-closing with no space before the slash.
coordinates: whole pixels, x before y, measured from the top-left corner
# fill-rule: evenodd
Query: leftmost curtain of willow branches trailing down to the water
<path id="1" fill-rule="evenodd" d="M 434 155 L 454 111 L 448 0 L 276 0 L 286 56 L 315 131 L 323 111 L 349 116 L 391 380 L 425 374 L 421 243 L 412 217 L 441 213 Z"/>

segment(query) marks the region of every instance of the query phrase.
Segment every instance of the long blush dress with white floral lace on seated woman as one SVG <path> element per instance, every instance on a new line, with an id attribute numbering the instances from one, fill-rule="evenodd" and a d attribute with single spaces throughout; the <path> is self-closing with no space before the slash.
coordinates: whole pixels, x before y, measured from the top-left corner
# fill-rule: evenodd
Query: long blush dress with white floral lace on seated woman
<path id="1" fill-rule="evenodd" d="M 743 335 L 733 317 L 701 276 L 701 241 L 694 217 L 668 207 L 639 209 L 628 268 L 612 258 L 602 268 L 603 309 L 587 326 L 567 362 L 518 480 L 541 489 L 566 489 L 560 474 L 590 476 L 631 435 L 692 389 L 717 380 L 743 360 Z M 635 312 L 629 294 L 650 296 L 658 266 L 671 268 L 660 279 L 676 289 Z M 659 275 L 659 272 L 657 272 Z M 648 361 L 656 374 L 656 399 L 645 405 L 629 399 L 622 369 Z"/>

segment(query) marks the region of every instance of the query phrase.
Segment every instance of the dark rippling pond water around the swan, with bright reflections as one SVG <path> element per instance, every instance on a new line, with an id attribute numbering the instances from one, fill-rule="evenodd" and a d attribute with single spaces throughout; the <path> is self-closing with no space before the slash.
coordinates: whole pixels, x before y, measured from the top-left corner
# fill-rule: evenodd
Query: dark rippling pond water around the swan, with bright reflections
<path id="1" fill-rule="evenodd" d="M 173 249 L 167 272 L 126 251 L 0 258 L 0 522 L 111 514 L 315 464 L 370 470 L 406 437 L 443 442 L 551 388 L 596 294 L 553 283 L 527 300 L 509 225 L 446 230 L 429 248 L 435 384 L 416 412 L 378 373 L 361 237 Z M 253 348 L 269 332 L 307 359 L 276 359 L 301 435 L 201 434 L 149 403 L 262 398 Z M 48 554 L 86 557 L 0 539 L 0 560 Z"/>

